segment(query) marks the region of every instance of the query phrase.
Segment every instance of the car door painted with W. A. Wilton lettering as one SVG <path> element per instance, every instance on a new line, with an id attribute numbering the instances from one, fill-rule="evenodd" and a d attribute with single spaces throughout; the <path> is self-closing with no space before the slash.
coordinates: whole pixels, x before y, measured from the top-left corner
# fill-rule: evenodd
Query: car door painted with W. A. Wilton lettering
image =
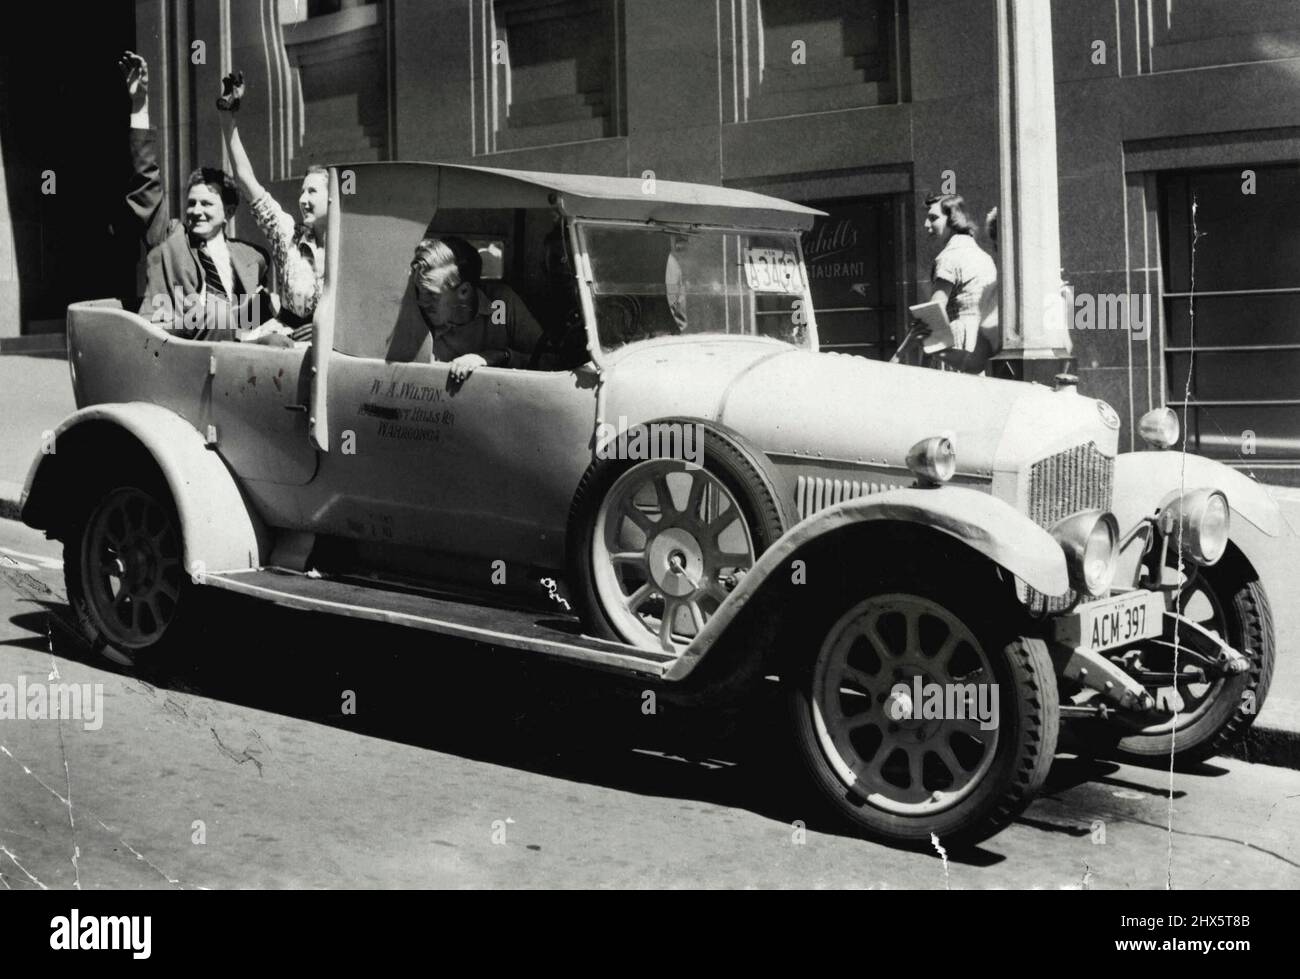
<path id="1" fill-rule="evenodd" d="M 592 462 L 595 372 L 398 364 L 334 352 L 317 529 L 560 568 Z"/>

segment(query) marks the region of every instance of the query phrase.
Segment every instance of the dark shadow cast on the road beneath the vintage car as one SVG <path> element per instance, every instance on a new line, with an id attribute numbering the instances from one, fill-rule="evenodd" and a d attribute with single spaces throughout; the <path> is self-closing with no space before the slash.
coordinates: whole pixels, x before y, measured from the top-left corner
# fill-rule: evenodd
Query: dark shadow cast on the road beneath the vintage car
<path id="1" fill-rule="evenodd" d="M 827 835 L 852 836 L 798 772 L 779 703 L 680 707 L 649 683 L 536 654 L 398 627 L 278 608 L 216 594 L 212 628 L 157 667 L 92 650 L 68 606 L 13 616 L 48 649 L 152 686 L 558 779 L 740 809 Z M 939 859 L 933 849 L 920 850 Z M 983 848 L 954 863 L 1005 859 Z"/>

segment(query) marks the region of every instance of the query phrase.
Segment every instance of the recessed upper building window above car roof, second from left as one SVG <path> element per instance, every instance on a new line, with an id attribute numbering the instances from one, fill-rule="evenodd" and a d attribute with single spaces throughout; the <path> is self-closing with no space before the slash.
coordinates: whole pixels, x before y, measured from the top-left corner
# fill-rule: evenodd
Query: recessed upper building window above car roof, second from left
<path id="1" fill-rule="evenodd" d="M 482 0 L 482 152 L 623 135 L 621 0 Z"/>

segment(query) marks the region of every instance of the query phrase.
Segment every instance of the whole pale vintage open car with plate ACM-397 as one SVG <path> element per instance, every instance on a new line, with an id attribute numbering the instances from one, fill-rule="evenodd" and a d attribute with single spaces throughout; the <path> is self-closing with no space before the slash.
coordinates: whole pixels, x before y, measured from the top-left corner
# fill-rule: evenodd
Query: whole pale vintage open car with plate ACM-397
<path id="1" fill-rule="evenodd" d="M 88 640 L 159 657 L 207 589 L 744 701 L 859 832 L 987 837 L 1062 722 L 1178 762 L 1262 705 L 1274 636 L 1231 519 L 1280 514 L 1057 389 L 818 350 L 800 233 L 740 190 L 334 168 L 309 348 L 69 308 L 78 411 L 22 516 Z M 292 189 L 285 200 L 291 205 Z M 410 261 L 456 234 L 546 330 L 526 369 L 430 363 Z M 1167 410 L 1140 424 L 1171 450 Z"/>

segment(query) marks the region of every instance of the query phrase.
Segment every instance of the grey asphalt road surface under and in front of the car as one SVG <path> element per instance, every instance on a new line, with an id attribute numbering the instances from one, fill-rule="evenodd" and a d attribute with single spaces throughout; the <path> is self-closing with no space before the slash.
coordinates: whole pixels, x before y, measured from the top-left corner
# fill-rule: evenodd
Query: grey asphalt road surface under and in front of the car
<path id="1" fill-rule="evenodd" d="M 0 684 L 101 684 L 103 710 L 0 720 L 4 888 L 1300 887 L 1296 771 L 1214 761 L 1170 800 L 1165 771 L 1061 755 L 944 861 L 827 824 L 779 728 L 485 646 L 225 601 L 136 676 L 61 632 L 58 556 L 0 521 Z"/>

